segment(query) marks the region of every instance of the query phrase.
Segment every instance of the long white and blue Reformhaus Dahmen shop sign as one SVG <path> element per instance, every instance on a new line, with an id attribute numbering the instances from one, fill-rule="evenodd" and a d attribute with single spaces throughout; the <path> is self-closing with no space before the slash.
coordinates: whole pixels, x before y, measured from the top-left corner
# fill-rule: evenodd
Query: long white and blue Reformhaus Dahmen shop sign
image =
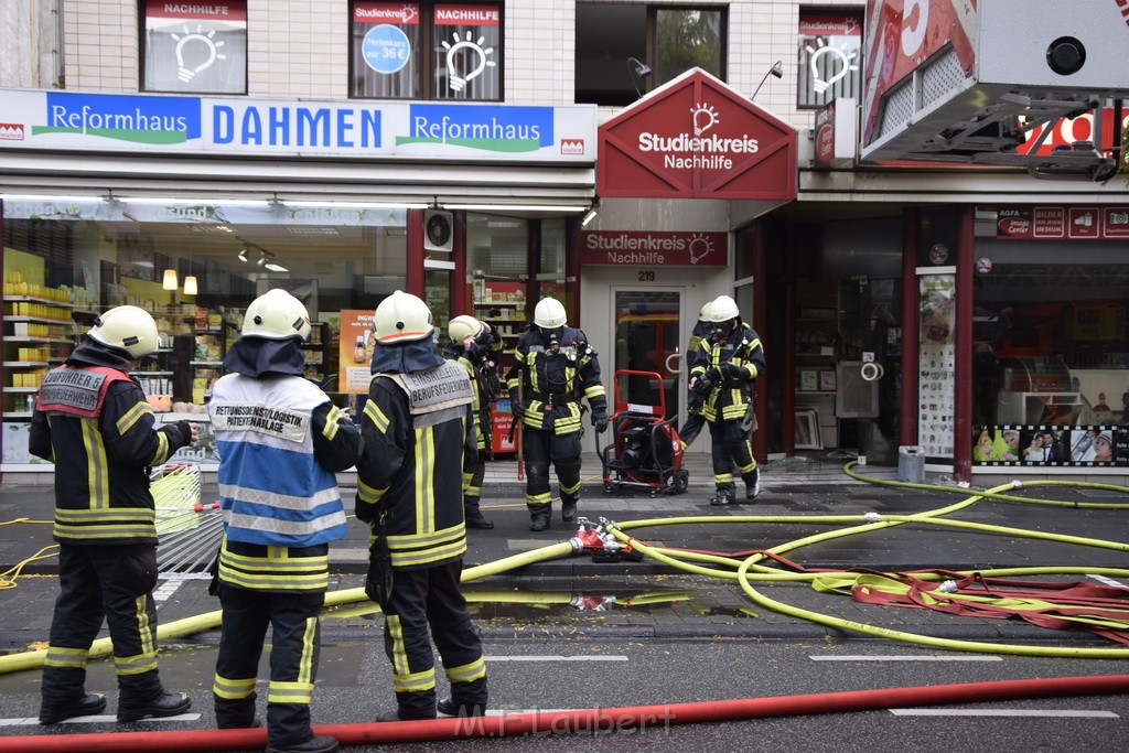
<path id="1" fill-rule="evenodd" d="M 588 163 L 596 108 L 0 90 L 6 149 Z"/>

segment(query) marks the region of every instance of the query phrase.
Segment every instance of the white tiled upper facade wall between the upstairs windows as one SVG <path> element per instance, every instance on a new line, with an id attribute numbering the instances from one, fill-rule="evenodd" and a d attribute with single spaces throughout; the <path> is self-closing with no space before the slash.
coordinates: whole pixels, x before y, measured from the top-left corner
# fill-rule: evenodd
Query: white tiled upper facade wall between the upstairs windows
<path id="1" fill-rule="evenodd" d="M 632 2 L 633 0 L 625 0 Z M 728 84 L 752 95 L 772 64 L 784 62 L 785 77 L 769 78 L 758 103 L 796 126 L 809 125 L 811 113 L 796 110 L 796 0 L 698 0 L 728 8 Z M 21 28 L 24 6 L 36 0 L 6 0 L 0 20 Z M 636 3 L 648 5 L 648 3 Z M 653 0 L 681 5 L 686 0 Z M 506 100 L 574 102 L 575 0 L 509 0 L 505 10 Z M 820 0 L 821 9 L 865 9 L 866 0 Z M 135 0 L 64 0 L 67 88 L 137 91 L 139 32 Z M 269 98 L 343 99 L 349 90 L 349 3 L 347 0 L 250 0 L 247 12 L 247 94 Z M 7 56 L 5 56 L 7 58 Z M 2 68 L 0 68 L 2 72 Z M 24 85 L 26 86 L 26 85 Z M 607 108 L 601 120 L 615 111 Z"/>

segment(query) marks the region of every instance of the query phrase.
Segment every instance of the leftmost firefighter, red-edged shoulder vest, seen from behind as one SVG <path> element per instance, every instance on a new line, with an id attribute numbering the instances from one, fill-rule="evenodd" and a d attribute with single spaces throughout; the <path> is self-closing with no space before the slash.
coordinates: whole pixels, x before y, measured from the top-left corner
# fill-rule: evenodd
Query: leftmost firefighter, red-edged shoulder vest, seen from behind
<path id="1" fill-rule="evenodd" d="M 100 713 L 86 664 L 103 618 L 114 643 L 117 720 L 183 713 L 157 674 L 157 527 L 151 466 L 196 440 L 196 424 L 155 429 L 129 376 L 157 350 L 157 324 L 137 306 L 104 313 L 63 365 L 43 378 L 28 449 L 55 463 L 59 586 L 40 685 L 40 724 Z"/>

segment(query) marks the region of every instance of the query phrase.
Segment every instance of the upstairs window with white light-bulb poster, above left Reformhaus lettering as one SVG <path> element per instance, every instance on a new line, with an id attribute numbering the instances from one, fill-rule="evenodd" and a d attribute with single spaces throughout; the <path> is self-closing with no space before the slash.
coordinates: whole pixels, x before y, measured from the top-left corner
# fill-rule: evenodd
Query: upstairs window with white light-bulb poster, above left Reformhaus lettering
<path id="1" fill-rule="evenodd" d="M 141 90 L 247 93 L 247 3 L 141 5 Z"/>

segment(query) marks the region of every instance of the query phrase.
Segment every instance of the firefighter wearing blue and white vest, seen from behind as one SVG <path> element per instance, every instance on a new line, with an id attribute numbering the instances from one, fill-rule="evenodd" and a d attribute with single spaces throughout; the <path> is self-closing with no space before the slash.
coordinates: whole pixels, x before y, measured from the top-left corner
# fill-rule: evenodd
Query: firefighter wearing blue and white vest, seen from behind
<path id="1" fill-rule="evenodd" d="M 212 695 L 220 728 L 255 721 L 255 682 L 266 628 L 269 752 L 331 753 L 314 735 L 309 703 L 318 614 L 329 588 L 330 542 L 345 533 L 339 471 L 361 452 L 360 429 L 304 378 L 305 305 L 280 289 L 247 306 L 229 373 L 208 405 L 220 464 L 224 539 L 217 587 L 224 613 Z"/>

